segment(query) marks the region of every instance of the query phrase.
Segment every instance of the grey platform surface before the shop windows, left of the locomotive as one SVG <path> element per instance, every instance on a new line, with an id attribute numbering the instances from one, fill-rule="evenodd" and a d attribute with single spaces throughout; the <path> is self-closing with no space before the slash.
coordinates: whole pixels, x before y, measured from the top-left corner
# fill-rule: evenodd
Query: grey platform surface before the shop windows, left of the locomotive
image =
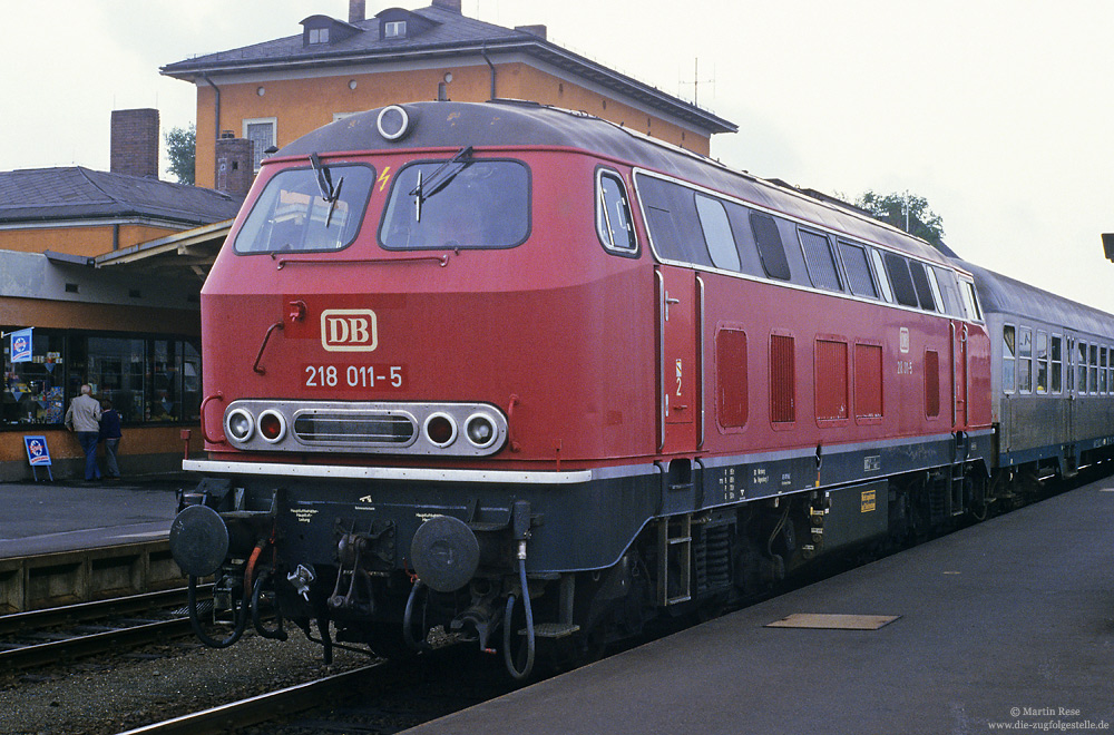
<path id="1" fill-rule="evenodd" d="M 0 482 L 0 558 L 166 538 L 182 473 L 97 483 Z"/>

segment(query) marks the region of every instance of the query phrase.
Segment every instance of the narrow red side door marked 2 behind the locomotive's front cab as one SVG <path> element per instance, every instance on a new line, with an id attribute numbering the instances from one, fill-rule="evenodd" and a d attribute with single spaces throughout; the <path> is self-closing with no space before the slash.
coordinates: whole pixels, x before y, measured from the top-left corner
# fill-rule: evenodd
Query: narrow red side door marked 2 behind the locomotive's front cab
<path id="1" fill-rule="evenodd" d="M 698 339 L 703 282 L 694 272 L 657 267 L 658 450 L 692 452 L 703 442 L 704 412 Z"/>

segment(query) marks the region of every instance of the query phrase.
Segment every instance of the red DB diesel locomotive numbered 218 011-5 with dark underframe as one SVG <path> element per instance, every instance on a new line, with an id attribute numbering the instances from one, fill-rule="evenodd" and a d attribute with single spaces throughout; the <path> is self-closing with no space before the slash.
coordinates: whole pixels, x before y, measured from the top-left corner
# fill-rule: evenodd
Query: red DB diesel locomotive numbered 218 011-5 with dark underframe
<path id="1" fill-rule="evenodd" d="M 989 501 L 969 272 L 586 115 L 412 104 L 290 144 L 202 320 L 172 547 L 216 578 L 214 645 L 443 628 L 522 677 Z"/>

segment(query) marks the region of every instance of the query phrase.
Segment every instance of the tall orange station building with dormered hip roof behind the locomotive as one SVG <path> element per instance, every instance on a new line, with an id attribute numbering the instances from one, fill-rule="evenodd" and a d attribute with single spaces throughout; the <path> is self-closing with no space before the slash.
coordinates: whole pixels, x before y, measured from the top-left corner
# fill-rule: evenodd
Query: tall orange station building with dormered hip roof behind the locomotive
<path id="1" fill-rule="evenodd" d="M 228 175 L 233 139 L 250 140 L 253 170 L 282 147 L 352 112 L 418 100 L 525 99 L 583 110 L 707 155 L 736 126 L 547 39 L 545 26 L 502 28 L 468 18 L 460 0 L 388 8 L 348 20 L 310 16 L 296 35 L 199 56 L 162 72 L 197 87 L 197 183 Z M 293 29 L 292 29 L 293 30 Z"/>

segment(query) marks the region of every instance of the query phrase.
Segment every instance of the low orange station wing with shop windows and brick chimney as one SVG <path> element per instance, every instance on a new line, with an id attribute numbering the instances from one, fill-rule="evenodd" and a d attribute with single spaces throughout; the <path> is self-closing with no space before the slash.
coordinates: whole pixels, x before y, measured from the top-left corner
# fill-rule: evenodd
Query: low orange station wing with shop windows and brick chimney
<path id="1" fill-rule="evenodd" d="M 242 197 L 158 180 L 157 110 L 114 112 L 111 145 L 110 171 L 0 173 L 0 480 L 81 471 L 62 420 L 82 383 L 121 415 L 125 473 L 180 467 L 182 430 L 197 425 L 205 261 L 188 265 L 188 243 L 214 223 L 226 232 Z M 126 264 L 167 239 L 186 243 L 173 268 Z M 49 472 L 32 472 L 28 435 L 46 438 Z"/>

